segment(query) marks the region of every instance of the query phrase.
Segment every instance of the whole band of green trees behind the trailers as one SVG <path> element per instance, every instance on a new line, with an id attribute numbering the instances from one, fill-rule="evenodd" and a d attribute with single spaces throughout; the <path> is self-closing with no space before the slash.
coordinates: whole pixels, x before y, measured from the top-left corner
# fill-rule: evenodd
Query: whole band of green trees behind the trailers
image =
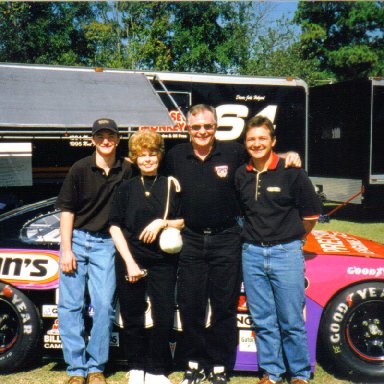
<path id="1" fill-rule="evenodd" d="M 0 2 L 0 61 L 327 79 L 382 75 L 384 3 Z"/>

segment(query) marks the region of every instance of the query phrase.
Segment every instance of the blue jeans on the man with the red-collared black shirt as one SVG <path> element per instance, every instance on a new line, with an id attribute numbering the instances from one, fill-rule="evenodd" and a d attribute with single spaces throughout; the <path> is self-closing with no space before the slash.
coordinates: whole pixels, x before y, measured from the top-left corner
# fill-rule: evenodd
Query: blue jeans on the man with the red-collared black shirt
<path id="1" fill-rule="evenodd" d="M 304 380 L 311 374 L 301 245 L 300 240 L 272 247 L 243 244 L 244 286 L 255 325 L 259 368 L 275 381 L 286 371 Z"/>

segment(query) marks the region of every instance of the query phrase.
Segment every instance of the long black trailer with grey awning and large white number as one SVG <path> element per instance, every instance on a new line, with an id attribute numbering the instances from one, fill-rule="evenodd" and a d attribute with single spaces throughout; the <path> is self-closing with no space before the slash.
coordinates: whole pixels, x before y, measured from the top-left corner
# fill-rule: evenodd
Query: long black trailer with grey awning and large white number
<path id="1" fill-rule="evenodd" d="M 307 95 L 293 78 L 0 64 L 0 187 L 24 202 L 55 195 L 69 167 L 92 152 L 99 117 L 118 123 L 122 155 L 139 129 L 164 135 L 168 149 L 188 140 L 185 114 L 198 103 L 217 108 L 219 140 L 241 140 L 246 119 L 267 115 L 277 150 L 297 151 L 306 164 Z"/>

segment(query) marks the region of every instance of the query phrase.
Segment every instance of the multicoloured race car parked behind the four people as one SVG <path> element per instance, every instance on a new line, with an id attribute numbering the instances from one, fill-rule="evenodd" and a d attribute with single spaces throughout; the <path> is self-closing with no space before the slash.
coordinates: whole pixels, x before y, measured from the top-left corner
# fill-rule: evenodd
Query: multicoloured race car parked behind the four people
<path id="1" fill-rule="evenodd" d="M 57 318 L 60 212 L 55 198 L 0 215 L 0 370 L 25 366 L 38 355 L 61 357 Z M 312 369 L 316 353 L 340 371 L 384 382 L 384 245 L 345 233 L 314 230 L 304 247 L 304 316 Z M 289 303 L 287 303 L 289 305 Z M 120 350 L 118 301 L 110 341 L 111 358 Z M 92 303 L 84 308 L 92 321 Z M 209 326 L 207 308 L 207 326 Z M 175 308 L 175 346 L 182 330 Z M 256 371 L 257 351 L 246 292 L 239 292 L 236 370 Z M 146 326 L 151 327 L 150 302 Z M 175 352 L 176 351 L 176 352 Z"/>

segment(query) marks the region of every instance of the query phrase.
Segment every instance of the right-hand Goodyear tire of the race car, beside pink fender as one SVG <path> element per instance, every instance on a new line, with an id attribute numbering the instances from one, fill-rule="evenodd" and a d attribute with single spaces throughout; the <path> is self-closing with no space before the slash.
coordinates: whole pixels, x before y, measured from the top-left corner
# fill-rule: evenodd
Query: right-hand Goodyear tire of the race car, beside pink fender
<path id="1" fill-rule="evenodd" d="M 384 382 L 384 283 L 338 293 L 320 323 L 320 348 L 340 373 Z"/>

